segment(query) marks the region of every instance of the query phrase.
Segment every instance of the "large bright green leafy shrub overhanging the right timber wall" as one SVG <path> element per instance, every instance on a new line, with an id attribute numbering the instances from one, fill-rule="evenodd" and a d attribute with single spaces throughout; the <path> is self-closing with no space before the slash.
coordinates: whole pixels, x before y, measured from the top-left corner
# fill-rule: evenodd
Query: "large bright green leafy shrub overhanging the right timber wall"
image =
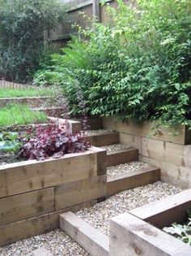
<path id="1" fill-rule="evenodd" d="M 112 24 L 80 30 L 40 75 L 62 85 L 72 115 L 83 111 L 80 91 L 89 115 L 190 125 L 191 2 L 117 2 L 108 7 Z"/>

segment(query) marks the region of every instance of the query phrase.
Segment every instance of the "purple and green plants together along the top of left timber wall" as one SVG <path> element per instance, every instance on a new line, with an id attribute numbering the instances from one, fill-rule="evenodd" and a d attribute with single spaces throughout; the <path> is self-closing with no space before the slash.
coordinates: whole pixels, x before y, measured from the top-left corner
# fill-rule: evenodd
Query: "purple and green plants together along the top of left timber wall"
<path id="1" fill-rule="evenodd" d="M 28 159 L 60 158 L 89 147 L 83 132 L 72 135 L 67 123 L 62 127 L 54 123 L 37 124 L 22 132 L 0 133 L 0 165 Z"/>

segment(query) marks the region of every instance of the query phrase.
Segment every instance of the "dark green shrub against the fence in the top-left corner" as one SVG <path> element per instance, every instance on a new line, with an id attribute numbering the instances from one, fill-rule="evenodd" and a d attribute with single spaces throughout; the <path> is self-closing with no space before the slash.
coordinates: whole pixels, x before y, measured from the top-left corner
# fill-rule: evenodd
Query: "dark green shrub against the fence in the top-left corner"
<path id="1" fill-rule="evenodd" d="M 26 80 L 46 60 L 43 33 L 65 15 L 59 0 L 0 0 L 0 78 Z"/>

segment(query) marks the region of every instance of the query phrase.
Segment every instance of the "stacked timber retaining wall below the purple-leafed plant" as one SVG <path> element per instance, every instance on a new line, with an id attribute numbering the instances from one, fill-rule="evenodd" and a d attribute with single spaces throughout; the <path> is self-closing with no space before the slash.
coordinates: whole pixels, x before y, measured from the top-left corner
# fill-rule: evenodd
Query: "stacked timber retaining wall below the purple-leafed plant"
<path id="1" fill-rule="evenodd" d="M 106 150 L 0 167 L 0 246 L 58 227 L 58 215 L 106 196 Z"/>

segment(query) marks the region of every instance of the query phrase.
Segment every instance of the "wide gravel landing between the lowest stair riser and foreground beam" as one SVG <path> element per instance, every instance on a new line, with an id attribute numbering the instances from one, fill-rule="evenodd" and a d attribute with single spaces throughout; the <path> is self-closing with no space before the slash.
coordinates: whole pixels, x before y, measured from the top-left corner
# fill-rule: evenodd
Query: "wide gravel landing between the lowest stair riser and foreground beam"
<path id="1" fill-rule="evenodd" d="M 89 209 L 80 210 L 78 215 L 95 228 L 100 229 L 105 235 L 108 235 L 109 219 L 112 217 L 158 201 L 168 195 L 179 193 L 180 190 L 170 184 L 158 181 L 154 184 L 118 193 Z"/>

